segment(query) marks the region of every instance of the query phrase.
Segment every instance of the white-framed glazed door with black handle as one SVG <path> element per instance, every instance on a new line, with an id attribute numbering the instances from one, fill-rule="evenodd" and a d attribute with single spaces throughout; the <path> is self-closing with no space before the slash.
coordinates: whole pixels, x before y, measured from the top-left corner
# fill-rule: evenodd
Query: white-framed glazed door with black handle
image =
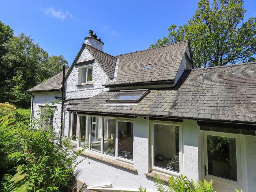
<path id="1" fill-rule="evenodd" d="M 204 178 L 213 181 L 217 192 L 241 188 L 240 136 L 204 132 Z"/>

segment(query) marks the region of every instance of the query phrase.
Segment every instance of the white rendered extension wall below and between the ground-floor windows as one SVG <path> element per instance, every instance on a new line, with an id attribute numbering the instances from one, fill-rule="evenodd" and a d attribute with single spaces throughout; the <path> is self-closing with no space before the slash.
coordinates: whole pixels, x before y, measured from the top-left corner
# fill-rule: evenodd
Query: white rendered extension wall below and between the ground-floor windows
<path id="1" fill-rule="evenodd" d="M 193 180 L 198 180 L 198 150 L 197 150 L 197 124 L 196 121 L 184 121 L 184 175 Z M 122 167 L 105 163 L 103 161 L 87 158 L 79 166 L 82 174 L 78 180 L 87 185 L 102 185 L 112 183 L 113 188 L 128 188 L 130 191 L 138 190 L 138 187 L 146 187 L 147 191 L 153 191 L 153 178 L 146 176 L 150 169 L 148 154 L 149 120 L 137 117 L 133 123 L 133 163 L 137 172 Z M 83 159 L 80 156 L 78 161 Z"/>

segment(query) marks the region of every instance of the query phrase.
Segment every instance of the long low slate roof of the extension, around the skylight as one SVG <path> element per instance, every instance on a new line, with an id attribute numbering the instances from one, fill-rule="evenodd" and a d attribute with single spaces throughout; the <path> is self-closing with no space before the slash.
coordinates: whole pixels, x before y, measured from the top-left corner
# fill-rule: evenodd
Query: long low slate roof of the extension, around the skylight
<path id="1" fill-rule="evenodd" d="M 256 63 L 185 70 L 175 87 L 150 90 L 138 105 L 108 104 L 102 92 L 70 110 L 222 121 L 256 121 Z"/>

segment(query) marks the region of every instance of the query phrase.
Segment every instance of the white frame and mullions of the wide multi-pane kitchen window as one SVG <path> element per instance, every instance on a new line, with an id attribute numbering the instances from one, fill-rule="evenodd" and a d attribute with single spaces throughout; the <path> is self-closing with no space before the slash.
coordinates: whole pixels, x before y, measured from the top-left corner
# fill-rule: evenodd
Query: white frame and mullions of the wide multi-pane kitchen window
<path id="1" fill-rule="evenodd" d="M 92 115 L 86 115 L 86 114 L 77 114 L 77 128 L 76 128 L 76 133 L 77 133 L 77 138 L 80 138 L 80 117 L 81 116 L 86 116 L 86 126 L 88 126 L 88 133 L 86 132 L 86 134 L 88 135 L 89 137 L 89 142 L 88 142 L 88 146 L 86 148 L 86 151 L 90 152 L 90 153 L 94 153 L 94 154 L 97 154 L 97 155 L 102 155 L 102 157 L 105 157 L 105 158 L 110 158 L 110 159 L 115 159 L 115 160 L 118 160 L 118 161 L 122 161 L 122 162 L 126 162 L 126 163 L 129 163 L 129 164 L 132 164 L 133 165 L 133 160 L 131 159 L 125 159 L 125 158 L 122 158 L 122 157 L 118 157 L 118 153 L 115 153 L 115 156 L 110 156 L 110 155 L 107 155 L 107 154 L 104 154 L 104 151 L 103 151 L 103 143 L 104 142 L 101 142 L 101 152 L 98 152 L 98 151 L 94 151 L 94 150 L 91 150 L 91 118 L 89 117 L 98 117 L 98 120 L 97 120 L 97 123 L 98 125 L 101 123 L 101 126 L 102 126 L 102 133 L 101 133 L 101 141 L 104 140 L 104 121 L 103 119 L 106 118 L 110 118 L 110 119 L 115 119 L 116 120 L 116 140 L 115 140 L 115 151 L 118 151 L 118 125 L 119 125 L 119 122 L 120 121 L 123 121 L 123 122 L 129 122 L 129 123 L 133 123 L 134 125 L 134 120 L 133 119 L 130 119 L 130 118 L 116 118 L 116 117 L 107 117 L 107 116 L 92 116 Z M 99 118 L 101 118 L 101 122 L 99 122 Z M 132 126 L 133 126 L 132 125 Z M 133 128 L 133 127 L 132 127 Z M 82 147 L 80 147 L 80 143 L 79 143 L 79 139 L 77 139 L 77 148 L 78 149 L 81 149 Z M 134 129 L 132 130 L 132 153 L 134 153 Z"/>

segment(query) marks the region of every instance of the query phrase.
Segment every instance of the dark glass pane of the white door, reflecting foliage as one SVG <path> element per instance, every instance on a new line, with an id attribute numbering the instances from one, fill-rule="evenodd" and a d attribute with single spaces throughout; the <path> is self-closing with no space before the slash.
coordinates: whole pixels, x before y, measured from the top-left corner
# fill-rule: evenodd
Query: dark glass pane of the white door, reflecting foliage
<path id="1" fill-rule="evenodd" d="M 208 174 L 237 181 L 236 139 L 207 135 Z"/>

